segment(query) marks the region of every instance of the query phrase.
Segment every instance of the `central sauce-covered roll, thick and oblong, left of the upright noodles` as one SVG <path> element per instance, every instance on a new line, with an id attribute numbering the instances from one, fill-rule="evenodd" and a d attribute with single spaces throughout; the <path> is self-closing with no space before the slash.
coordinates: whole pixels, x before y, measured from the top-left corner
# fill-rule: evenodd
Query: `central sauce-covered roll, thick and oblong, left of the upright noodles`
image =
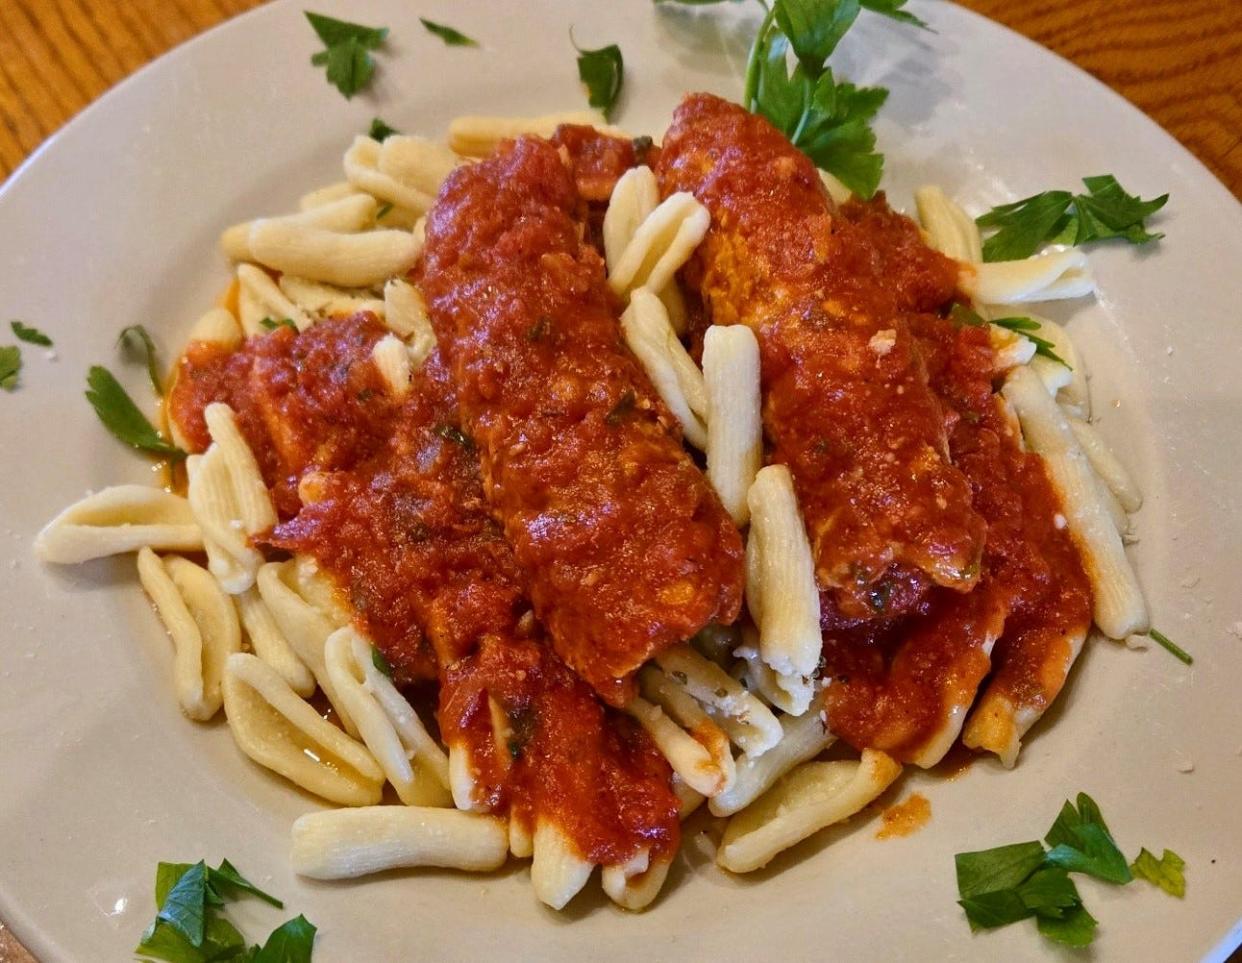
<path id="1" fill-rule="evenodd" d="M 483 490 L 558 654 L 615 706 L 741 604 L 741 539 L 625 345 L 570 169 L 522 138 L 458 168 L 422 291 Z"/>

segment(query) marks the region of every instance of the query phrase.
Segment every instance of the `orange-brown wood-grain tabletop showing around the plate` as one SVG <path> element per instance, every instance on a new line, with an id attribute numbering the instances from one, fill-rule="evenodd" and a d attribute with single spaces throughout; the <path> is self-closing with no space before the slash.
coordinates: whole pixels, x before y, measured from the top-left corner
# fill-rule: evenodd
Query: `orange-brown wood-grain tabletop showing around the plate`
<path id="1" fill-rule="evenodd" d="M 1242 0 L 961 1 L 1124 94 L 1242 198 Z M 252 6 L 0 0 L 0 179 L 114 83 Z M 0 963 L 27 961 L 0 923 Z"/>

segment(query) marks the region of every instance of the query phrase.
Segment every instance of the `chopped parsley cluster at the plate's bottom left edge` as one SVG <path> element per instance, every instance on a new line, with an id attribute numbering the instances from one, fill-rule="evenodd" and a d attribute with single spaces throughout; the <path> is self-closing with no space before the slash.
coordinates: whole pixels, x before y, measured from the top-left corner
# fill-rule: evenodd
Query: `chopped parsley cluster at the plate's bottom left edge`
<path id="1" fill-rule="evenodd" d="M 154 922 L 134 952 L 168 963 L 238 961 L 245 963 L 309 963 L 315 928 L 304 916 L 277 927 L 262 947 L 250 944 L 221 915 L 230 900 L 250 895 L 277 908 L 284 905 L 260 890 L 225 860 L 212 870 L 195 864 L 161 862 L 155 870 Z"/>

